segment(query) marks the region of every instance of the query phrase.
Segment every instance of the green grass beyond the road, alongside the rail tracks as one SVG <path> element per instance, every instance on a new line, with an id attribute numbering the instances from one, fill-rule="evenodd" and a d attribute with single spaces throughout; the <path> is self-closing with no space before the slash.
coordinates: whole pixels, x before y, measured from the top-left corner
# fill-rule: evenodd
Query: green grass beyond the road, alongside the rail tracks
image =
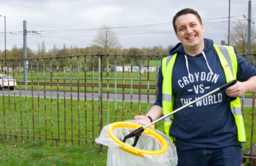
<path id="1" fill-rule="evenodd" d="M 59 73 L 59 82 L 63 82 L 63 78 L 64 78 L 64 73 L 63 72 L 60 72 Z M 102 83 L 103 84 L 107 84 L 107 75 L 106 75 L 106 72 L 103 72 L 103 79 L 102 79 Z M 147 73 L 144 73 L 145 75 L 144 76 L 141 76 L 140 79 L 140 83 L 141 85 L 147 85 L 148 84 L 148 81 L 147 81 Z M 19 81 L 23 82 L 23 75 L 21 75 L 21 80 L 19 79 L 19 75 L 18 73 L 15 73 L 15 79 L 17 81 L 17 87 L 16 89 L 19 89 L 19 87 L 21 87 L 21 89 L 25 89 L 25 85 L 19 85 Z M 93 75 L 93 79 L 94 79 L 94 84 L 95 85 L 98 85 L 98 72 L 95 71 L 94 73 L 92 73 L 92 71 L 87 71 L 86 72 L 86 83 L 92 83 L 92 75 Z M 45 82 L 50 82 L 51 81 L 51 74 L 50 72 L 46 72 L 46 73 L 43 73 L 43 72 L 39 72 L 39 82 L 43 82 L 44 81 L 44 77 L 45 77 Z M 117 78 L 116 79 L 116 83 L 117 84 L 122 84 L 123 81 L 122 81 L 122 77 L 123 77 L 123 74 L 122 72 L 117 72 L 116 73 L 116 76 L 115 76 L 115 73 L 114 72 L 109 72 L 109 84 L 114 84 L 115 83 L 115 77 Z M 33 73 L 31 75 L 31 73 L 28 73 L 28 81 L 31 81 L 33 80 L 34 84 L 37 84 L 37 81 L 38 81 L 38 78 L 37 78 L 37 73 Z M 131 73 L 130 72 L 124 72 L 124 84 L 128 84 L 128 85 L 131 85 Z M 133 85 L 138 85 L 139 84 L 139 73 L 138 72 L 133 72 L 132 74 L 132 84 Z M 70 83 L 72 80 L 72 83 L 77 83 L 77 80 L 78 80 L 78 73 L 77 72 L 72 72 L 72 79 L 71 79 L 71 73 L 70 72 L 66 72 L 65 73 L 65 82 L 66 83 Z M 52 74 L 52 82 L 57 82 L 57 72 L 53 72 Z M 85 73 L 84 72 L 80 72 L 79 73 L 79 83 L 85 83 Z M 149 72 L 149 85 L 156 85 L 156 73 L 155 72 Z M 33 89 L 37 89 L 38 86 L 37 85 L 33 85 Z M 31 89 L 31 85 L 27 85 L 27 89 Z M 39 89 L 43 90 L 44 89 L 44 86 L 43 85 L 39 85 Z M 49 90 L 51 89 L 50 86 L 46 86 L 45 89 Z M 52 87 L 53 90 L 57 90 L 57 87 L 56 86 L 53 86 Z M 64 86 L 59 86 L 59 90 L 63 90 L 64 89 Z M 70 86 L 66 86 L 65 87 L 66 90 L 70 90 Z M 85 90 L 85 87 L 79 87 L 79 89 L 81 91 L 84 91 Z M 72 86 L 72 90 L 77 90 L 77 87 L 76 86 Z M 87 87 L 86 88 L 87 91 L 92 91 L 92 87 Z M 95 91 L 98 91 L 98 88 L 97 87 L 94 87 L 94 90 Z M 102 89 L 103 92 L 107 92 L 108 89 L 105 87 Z M 123 89 L 122 88 L 117 88 L 116 89 L 117 92 L 123 92 Z M 115 89 L 114 88 L 109 88 L 109 92 L 115 92 Z M 130 88 L 126 88 L 124 90 L 124 92 L 127 92 L 127 93 L 130 93 L 131 92 L 131 89 Z M 138 89 L 132 89 L 132 92 L 133 93 L 138 93 L 139 90 Z M 141 89 L 141 93 L 147 93 L 147 89 Z M 149 93 L 155 93 L 155 89 L 149 89 Z"/>

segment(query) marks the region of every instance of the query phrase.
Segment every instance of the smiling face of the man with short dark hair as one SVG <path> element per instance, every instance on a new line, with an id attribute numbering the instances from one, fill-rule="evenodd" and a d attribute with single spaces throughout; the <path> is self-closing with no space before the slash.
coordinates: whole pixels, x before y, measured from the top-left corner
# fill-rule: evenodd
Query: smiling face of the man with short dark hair
<path id="1" fill-rule="evenodd" d="M 182 43 L 186 53 L 204 49 L 204 25 L 200 25 L 194 14 L 181 15 L 175 21 L 176 36 Z"/>

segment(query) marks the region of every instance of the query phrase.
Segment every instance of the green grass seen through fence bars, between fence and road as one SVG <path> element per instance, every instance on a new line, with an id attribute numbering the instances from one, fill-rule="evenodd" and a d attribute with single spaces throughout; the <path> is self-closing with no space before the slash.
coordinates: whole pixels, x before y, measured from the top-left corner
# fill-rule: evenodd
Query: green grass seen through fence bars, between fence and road
<path id="1" fill-rule="evenodd" d="M 3 98 L 0 97 L 0 100 L 2 99 Z M 79 136 L 80 139 L 85 139 L 85 134 L 87 134 L 87 140 L 94 140 L 99 135 L 98 101 L 94 101 L 92 105 L 92 101 L 88 100 L 86 102 L 85 111 L 84 100 L 80 102 L 73 100 L 71 105 L 71 100 L 66 99 L 65 109 L 64 99 L 59 99 L 59 107 L 57 107 L 57 99 L 52 99 L 51 101 L 50 98 L 46 98 L 45 104 L 44 98 L 39 98 L 39 106 L 37 97 L 34 97 L 33 101 L 31 97 L 28 97 L 27 101 L 25 97 L 16 97 L 15 100 L 16 104 L 14 103 L 14 97 L 10 96 L 9 107 L 9 98 L 4 98 L 4 108 L 2 107 L 2 111 L 0 112 L 1 133 L 6 132 L 18 135 L 23 134 L 24 136 L 35 135 L 55 138 L 57 138 L 58 135 L 60 135 L 60 138 L 64 138 L 66 133 L 66 138 L 70 139 L 78 139 Z M 152 104 L 149 104 L 149 107 L 151 107 L 151 105 Z M 133 103 L 131 110 L 130 102 L 125 102 L 123 110 L 122 102 L 117 102 L 115 110 L 115 102 L 110 101 L 108 110 L 107 101 L 103 101 L 103 125 L 106 125 L 108 121 L 109 123 L 122 121 L 123 116 L 124 120 L 131 119 L 131 116 L 133 118 L 134 115 L 138 115 L 139 111 L 141 111 L 141 114 L 145 114 L 147 109 L 148 106 L 146 103 L 141 103 L 141 108 L 139 108 L 138 103 Z M 107 117 L 108 113 L 109 117 Z M 58 121 L 60 125 L 58 125 Z M 70 143 L 70 141 L 67 140 L 67 143 Z"/>

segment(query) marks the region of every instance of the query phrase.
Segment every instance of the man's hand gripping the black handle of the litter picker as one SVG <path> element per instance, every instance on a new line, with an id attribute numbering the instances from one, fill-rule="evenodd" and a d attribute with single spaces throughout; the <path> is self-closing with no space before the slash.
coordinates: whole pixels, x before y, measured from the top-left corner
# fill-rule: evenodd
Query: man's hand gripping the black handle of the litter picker
<path id="1" fill-rule="evenodd" d="M 229 97 L 239 97 L 239 96 L 242 96 L 244 93 L 246 93 L 247 90 L 248 89 L 245 82 L 237 81 L 235 85 L 230 86 L 225 91 Z"/>

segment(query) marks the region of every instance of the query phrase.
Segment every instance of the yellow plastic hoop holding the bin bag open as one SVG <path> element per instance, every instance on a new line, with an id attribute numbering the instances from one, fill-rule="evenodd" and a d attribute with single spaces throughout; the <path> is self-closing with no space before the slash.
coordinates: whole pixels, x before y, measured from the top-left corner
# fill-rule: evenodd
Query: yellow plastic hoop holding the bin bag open
<path id="1" fill-rule="evenodd" d="M 148 154 L 148 155 L 159 155 L 164 153 L 167 148 L 168 148 L 168 144 L 166 142 L 166 140 L 159 135 L 157 132 L 155 132 L 154 130 L 150 129 L 150 128 L 145 128 L 143 133 L 145 134 L 150 134 L 152 136 L 154 136 L 157 140 L 159 140 L 159 142 L 162 145 L 162 149 L 160 150 L 156 150 L 156 151 L 147 151 L 147 150 L 142 150 L 142 149 L 138 149 L 138 148 L 134 148 L 128 144 L 123 143 L 121 140 L 119 140 L 114 134 L 113 134 L 113 129 L 114 128 L 118 128 L 118 127 L 130 127 L 130 128 L 140 128 L 142 127 L 142 125 L 139 124 L 135 124 L 135 123 L 130 123 L 130 122 L 115 122 L 109 125 L 108 127 L 108 134 L 109 136 L 119 145 L 121 145 L 121 147 L 119 147 L 120 149 L 122 149 L 125 152 L 131 153 L 133 155 L 136 156 L 141 156 L 144 157 L 142 154 Z"/>

